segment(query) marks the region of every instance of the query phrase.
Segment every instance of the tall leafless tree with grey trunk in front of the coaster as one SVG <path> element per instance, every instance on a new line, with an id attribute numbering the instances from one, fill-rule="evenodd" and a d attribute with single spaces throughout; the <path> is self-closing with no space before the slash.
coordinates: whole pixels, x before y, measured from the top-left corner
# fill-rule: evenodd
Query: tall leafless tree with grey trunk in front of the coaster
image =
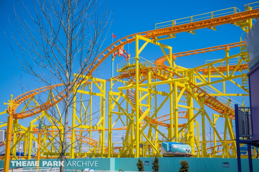
<path id="1" fill-rule="evenodd" d="M 112 16 L 106 10 L 107 2 L 102 4 L 96 0 L 32 2 L 30 6 L 23 1 L 14 5 L 13 21 L 9 18 L 9 24 L 16 44 L 12 44 L 8 36 L 6 38 L 17 57 L 14 66 L 31 74 L 44 86 L 58 85 L 49 89 L 48 94 L 53 95 L 49 101 L 53 103 L 61 97 L 62 110 L 58 113 L 55 108 L 49 108 L 47 113 L 57 122 L 62 122 L 64 117 L 63 136 L 58 140 L 61 143 L 60 159 L 64 161 L 68 116 L 75 96 L 73 89 L 79 88 L 86 79 L 84 76 L 98 62 L 96 57 L 107 37 Z M 37 100 L 41 101 L 42 97 Z M 45 123 L 44 119 L 40 121 Z"/>

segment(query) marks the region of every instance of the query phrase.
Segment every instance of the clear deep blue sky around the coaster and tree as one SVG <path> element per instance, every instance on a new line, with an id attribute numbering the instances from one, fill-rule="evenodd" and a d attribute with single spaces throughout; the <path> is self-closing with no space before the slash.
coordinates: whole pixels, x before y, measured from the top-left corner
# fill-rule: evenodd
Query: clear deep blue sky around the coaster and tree
<path id="1" fill-rule="evenodd" d="M 254 1 L 246 1 L 246 3 L 252 3 Z M 8 45 L 5 34 L 10 39 L 10 26 L 8 23 L 8 13 L 9 16 L 13 15 L 13 3 L 14 0 L 2 0 L 0 2 L 0 14 L 1 14 L 1 27 L 0 27 L 0 112 L 6 109 L 6 105 L 3 102 L 7 102 L 10 99 L 10 95 L 20 95 L 21 89 L 18 83 L 23 81 L 23 85 L 28 85 L 28 87 L 33 87 L 37 85 L 30 78 L 28 74 L 21 76 L 21 70 L 13 67 L 12 60 L 15 60 L 15 56 Z M 31 3 L 31 1 L 24 1 L 24 3 Z M 155 27 L 155 23 L 179 19 L 183 17 L 189 17 L 191 15 L 202 14 L 206 12 L 226 9 L 230 7 L 238 7 L 241 11 L 244 11 L 244 1 L 108 1 L 108 10 L 113 11 L 113 23 L 110 29 L 110 33 L 114 33 L 117 38 L 124 37 L 133 33 L 143 32 L 147 30 L 152 30 Z M 164 44 L 172 46 L 173 53 L 195 50 L 200 48 L 206 48 L 210 46 L 223 45 L 228 43 L 238 42 L 240 35 L 243 31 L 231 24 L 222 25 L 217 27 L 217 31 L 211 29 L 200 29 L 196 30 L 196 34 L 192 35 L 190 33 L 180 33 L 176 35 L 176 38 L 161 41 Z M 105 42 L 103 49 L 109 46 L 112 42 L 112 37 L 110 36 Z M 134 46 L 132 43 L 129 45 L 131 57 L 134 57 Z M 125 48 L 127 50 L 127 47 Z M 239 48 L 231 50 L 230 55 L 238 53 Z M 155 60 L 161 57 L 163 54 L 161 51 L 154 51 L 153 46 L 147 46 L 146 49 L 141 53 L 141 57 L 148 60 Z M 212 53 L 205 53 L 200 55 L 193 55 L 184 58 L 178 58 L 177 64 L 184 66 L 186 68 L 192 68 L 205 63 L 205 60 L 219 59 L 225 56 L 224 51 L 217 51 Z M 4 60 L 2 60 L 4 59 Z M 122 58 L 116 57 L 115 67 Z M 7 64 L 6 62 L 9 64 Z M 109 62 L 110 59 L 107 59 Z M 105 66 L 105 72 L 101 72 L 99 75 L 103 79 L 108 79 L 111 76 L 110 63 Z M 115 71 L 115 70 L 114 70 Z M 101 76 L 102 75 L 102 76 Z M 116 72 L 115 74 L 116 75 Z M 17 83 L 18 81 L 18 83 Z M 228 88 L 227 91 L 235 92 L 232 88 Z M 0 121 L 6 121 L 7 115 L 1 115 Z M 24 123 L 28 121 L 25 120 Z M 25 124 L 25 126 L 26 126 Z M 119 136 L 120 137 L 120 136 Z"/>

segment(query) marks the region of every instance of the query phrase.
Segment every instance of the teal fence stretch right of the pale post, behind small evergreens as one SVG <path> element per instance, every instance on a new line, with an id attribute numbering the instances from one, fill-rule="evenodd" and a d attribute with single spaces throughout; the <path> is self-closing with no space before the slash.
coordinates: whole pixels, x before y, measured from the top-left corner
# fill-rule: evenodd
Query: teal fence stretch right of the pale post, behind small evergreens
<path id="1" fill-rule="evenodd" d="M 150 165 L 144 165 L 145 171 L 153 171 L 152 162 L 154 158 L 140 158 L 143 163 L 149 161 Z M 184 157 L 163 157 L 159 158 L 160 172 L 178 172 L 181 167 L 180 161 L 189 162 L 190 172 L 200 171 L 219 171 L 219 172 L 237 172 L 236 158 L 184 158 Z M 259 171 L 259 159 L 253 159 L 253 171 Z M 116 158 L 115 170 L 138 171 L 136 163 L 138 158 Z M 222 162 L 229 162 L 229 168 L 223 167 Z M 241 159 L 242 171 L 249 171 L 248 159 Z"/>

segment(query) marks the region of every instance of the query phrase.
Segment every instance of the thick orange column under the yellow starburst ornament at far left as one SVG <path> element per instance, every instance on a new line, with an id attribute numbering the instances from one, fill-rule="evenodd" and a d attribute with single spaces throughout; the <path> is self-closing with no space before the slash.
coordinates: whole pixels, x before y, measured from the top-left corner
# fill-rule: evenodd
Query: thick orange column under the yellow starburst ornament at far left
<path id="1" fill-rule="evenodd" d="M 11 143 L 12 143 L 12 124 L 13 117 L 7 117 L 7 129 L 6 129 L 6 147 L 4 155 L 4 172 L 9 172 L 9 163 L 10 163 L 10 153 L 11 153 Z"/>

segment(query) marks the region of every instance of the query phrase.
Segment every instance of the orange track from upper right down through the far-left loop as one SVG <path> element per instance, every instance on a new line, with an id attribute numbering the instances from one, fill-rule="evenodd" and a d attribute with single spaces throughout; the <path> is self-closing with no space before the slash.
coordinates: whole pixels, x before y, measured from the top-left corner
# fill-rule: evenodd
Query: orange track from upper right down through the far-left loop
<path id="1" fill-rule="evenodd" d="M 195 29 L 210 28 L 213 26 L 218 26 L 218 25 L 228 24 L 228 23 L 233 24 L 234 22 L 247 20 L 247 19 L 251 19 L 251 18 L 256 18 L 256 17 L 258 17 L 258 15 L 259 15 L 258 9 L 254 9 L 254 10 L 244 11 L 244 12 L 240 12 L 240 13 L 225 15 L 225 16 L 217 17 L 217 18 L 213 18 L 213 19 L 207 19 L 207 20 L 192 22 L 192 23 L 188 23 L 188 24 L 182 24 L 182 25 L 177 25 L 177 26 L 172 26 L 172 27 L 167 27 L 167 28 L 150 30 L 147 32 L 131 34 L 129 36 L 119 39 L 118 41 L 115 41 L 108 48 L 106 48 L 98 57 L 95 58 L 95 60 L 93 60 L 94 62 L 92 64 L 90 64 L 84 70 L 84 72 L 89 71 L 87 75 L 88 76 L 91 75 L 92 72 L 95 71 L 95 69 L 108 56 L 111 55 L 111 53 L 113 53 L 115 50 L 117 50 L 116 47 L 118 47 L 118 46 L 120 47 L 120 46 L 123 46 L 132 41 L 135 41 L 135 35 L 140 35 L 142 37 L 155 39 L 155 37 L 157 37 L 157 36 L 170 35 L 170 34 L 175 34 L 175 33 L 180 33 L 180 32 L 189 32 L 189 31 L 195 30 Z M 123 42 L 123 40 L 125 40 L 125 41 Z M 114 46 L 114 48 L 112 48 L 112 46 Z M 109 51 L 109 52 L 107 54 L 104 54 L 106 51 Z M 103 57 L 101 59 L 99 59 L 101 55 L 103 55 Z M 93 67 L 91 69 L 89 69 L 91 66 L 93 66 Z M 54 87 L 54 86 L 48 86 L 48 87 L 43 87 L 43 88 L 51 89 L 51 87 Z M 48 101 L 44 105 L 41 105 L 39 107 L 36 107 L 30 111 L 26 111 L 23 113 L 15 113 L 16 108 L 18 107 L 18 105 L 21 102 L 25 101 L 25 99 L 27 99 L 29 97 L 33 97 L 33 95 L 38 94 L 39 92 L 42 92 L 41 89 L 42 88 L 35 89 L 35 90 L 33 90 L 35 92 L 29 91 L 29 92 L 24 93 L 21 96 L 17 97 L 15 99 L 17 101 L 14 101 L 14 104 L 13 104 L 14 108 L 10 109 L 10 106 L 8 108 L 9 115 L 12 115 L 16 119 L 22 119 L 22 118 L 26 118 L 26 117 L 29 117 L 29 116 L 32 116 L 35 114 L 39 114 L 40 112 L 47 110 L 48 108 L 55 105 L 56 103 L 58 103 L 59 101 L 61 101 L 63 98 L 66 97 L 66 94 L 63 94 L 64 91 L 62 91 L 61 95 L 56 96 L 55 98 Z M 39 92 L 37 92 L 37 91 L 39 91 Z M 51 101 L 54 103 L 51 103 Z"/>

